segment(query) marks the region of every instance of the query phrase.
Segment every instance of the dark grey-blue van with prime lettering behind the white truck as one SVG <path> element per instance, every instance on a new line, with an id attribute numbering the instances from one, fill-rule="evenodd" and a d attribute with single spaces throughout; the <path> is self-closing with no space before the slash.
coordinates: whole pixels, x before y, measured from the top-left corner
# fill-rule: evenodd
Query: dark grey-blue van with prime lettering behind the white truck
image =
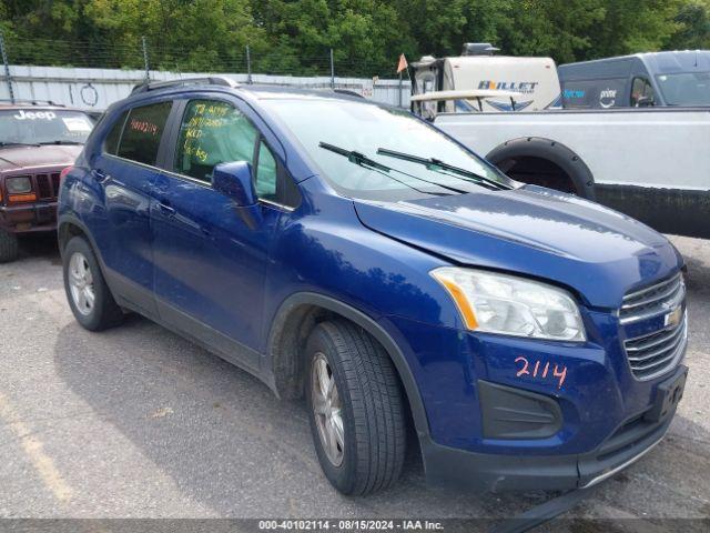
<path id="1" fill-rule="evenodd" d="M 636 53 L 561 64 L 570 109 L 710 105 L 710 51 Z"/>

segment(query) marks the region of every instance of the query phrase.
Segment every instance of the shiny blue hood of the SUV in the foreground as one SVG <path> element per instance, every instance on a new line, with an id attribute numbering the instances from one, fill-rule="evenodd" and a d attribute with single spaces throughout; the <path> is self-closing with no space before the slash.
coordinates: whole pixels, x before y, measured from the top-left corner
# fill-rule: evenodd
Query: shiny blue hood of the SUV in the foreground
<path id="1" fill-rule="evenodd" d="M 572 288 L 591 306 L 676 272 L 682 259 L 647 225 L 598 203 L 540 187 L 374 203 L 364 225 L 452 262 Z"/>

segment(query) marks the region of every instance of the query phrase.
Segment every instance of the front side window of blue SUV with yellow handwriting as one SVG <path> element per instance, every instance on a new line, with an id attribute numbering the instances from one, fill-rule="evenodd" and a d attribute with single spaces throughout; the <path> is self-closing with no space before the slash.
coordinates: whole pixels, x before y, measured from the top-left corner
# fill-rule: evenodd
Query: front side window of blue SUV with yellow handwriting
<path id="1" fill-rule="evenodd" d="M 193 100 L 180 125 L 175 171 L 210 183 L 220 163 L 253 162 L 257 137 L 256 128 L 233 105 Z"/>

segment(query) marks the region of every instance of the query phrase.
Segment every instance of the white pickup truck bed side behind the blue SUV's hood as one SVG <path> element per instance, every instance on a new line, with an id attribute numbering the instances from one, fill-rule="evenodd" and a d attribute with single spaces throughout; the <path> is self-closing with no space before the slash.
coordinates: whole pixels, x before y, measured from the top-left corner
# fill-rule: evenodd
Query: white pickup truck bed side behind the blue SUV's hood
<path id="1" fill-rule="evenodd" d="M 435 125 L 510 178 L 710 239 L 710 110 L 439 113 Z"/>

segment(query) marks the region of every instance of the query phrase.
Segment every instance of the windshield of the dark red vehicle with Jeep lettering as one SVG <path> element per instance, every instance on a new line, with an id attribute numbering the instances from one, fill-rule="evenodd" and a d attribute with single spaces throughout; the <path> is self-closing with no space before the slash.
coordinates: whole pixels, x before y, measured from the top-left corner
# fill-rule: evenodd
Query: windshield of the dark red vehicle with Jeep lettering
<path id="1" fill-rule="evenodd" d="M 1 144 L 87 142 L 91 119 L 81 111 L 13 109 L 0 111 Z"/>

